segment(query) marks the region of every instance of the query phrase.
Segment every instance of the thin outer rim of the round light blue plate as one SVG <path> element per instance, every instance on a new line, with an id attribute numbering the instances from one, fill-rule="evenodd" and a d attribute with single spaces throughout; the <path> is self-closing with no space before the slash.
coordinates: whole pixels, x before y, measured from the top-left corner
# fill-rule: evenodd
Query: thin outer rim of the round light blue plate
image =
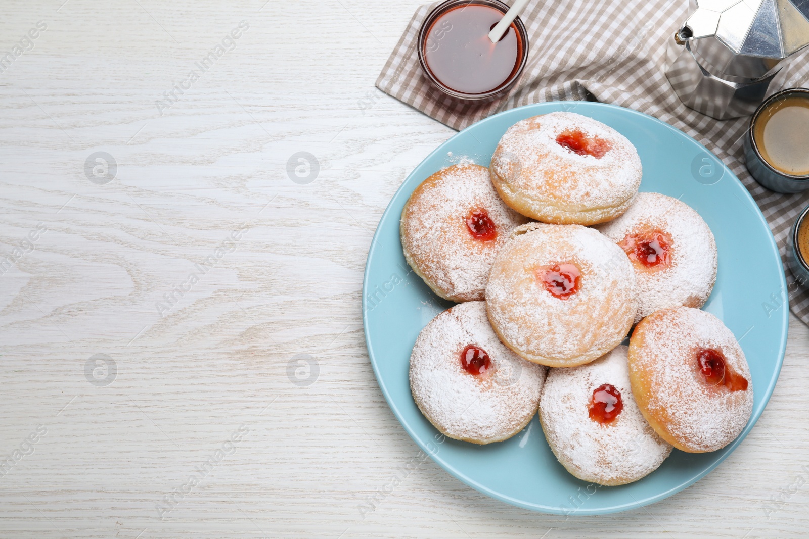
<path id="1" fill-rule="evenodd" d="M 368 327 L 368 318 L 367 317 L 368 317 L 369 310 L 367 310 L 366 307 L 365 307 L 364 298 L 367 297 L 367 294 L 369 293 L 369 288 L 368 288 L 369 287 L 369 282 L 368 282 L 368 279 L 369 279 L 369 262 L 371 261 L 371 257 L 373 257 L 375 255 L 376 246 L 379 244 L 379 242 L 377 241 L 377 236 L 379 235 L 379 225 L 380 225 L 380 223 L 382 223 L 382 221 L 385 219 L 385 217 L 388 216 L 388 213 L 390 213 L 392 211 L 392 205 L 391 205 L 392 201 L 395 200 L 396 197 L 399 196 L 400 192 L 404 189 L 405 184 L 408 183 L 408 180 L 410 179 L 411 175 L 413 175 L 413 171 L 415 171 L 419 166 L 421 166 L 421 163 L 427 161 L 430 158 L 433 158 L 435 155 L 437 155 L 439 153 L 442 153 L 443 152 L 443 147 L 445 145 L 447 145 L 450 141 L 454 140 L 456 137 L 460 137 L 461 134 L 466 133 L 466 131 L 468 129 L 480 128 L 479 126 L 484 125 L 486 123 L 489 123 L 490 121 L 493 121 L 498 116 L 510 114 L 510 113 L 513 113 L 516 110 L 530 109 L 530 108 L 542 109 L 542 108 L 547 107 L 549 105 L 555 105 L 555 106 L 558 107 L 559 106 L 558 103 L 571 103 L 571 102 L 566 102 L 566 101 L 545 101 L 545 102 L 542 102 L 542 103 L 530 103 L 530 104 L 527 104 L 527 105 L 523 105 L 521 107 L 513 107 L 513 108 L 507 109 L 505 111 L 498 112 L 497 114 L 493 114 L 492 116 L 487 116 L 486 118 L 484 118 L 482 120 L 479 120 L 479 121 L 475 122 L 472 125 L 469 125 L 468 127 L 462 129 L 461 131 L 459 131 L 457 133 L 454 133 L 451 137 L 447 138 L 446 141 L 443 141 L 440 145 L 438 145 L 438 147 L 436 149 L 434 149 L 432 152 L 430 152 L 430 154 L 428 154 L 425 158 L 421 159 L 421 162 L 419 162 L 416 166 L 414 166 L 413 170 L 410 171 L 409 174 L 404 177 L 404 179 L 402 180 L 402 183 L 400 183 L 400 186 L 396 189 L 396 192 L 394 192 L 393 195 L 391 196 L 390 200 L 388 200 L 388 205 L 385 207 L 385 210 L 383 211 L 382 215 L 379 217 L 379 221 L 377 222 L 376 229 L 374 231 L 374 237 L 371 239 L 371 246 L 369 247 L 368 255 L 366 256 L 365 269 L 362 272 L 362 297 L 360 299 L 360 301 L 361 301 L 360 306 L 361 306 L 361 309 L 362 309 L 362 332 L 365 335 L 365 343 L 366 343 L 366 350 L 368 352 L 368 359 L 371 362 L 371 368 L 374 371 L 374 377 L 376 378 L 376 383 L 377 383 L 377 385 L 379 385 L 379 389 L 382 390 L 383 397 L 385 398 L 385 402 L 388 403 L 388 407 L 390 407 L 391 411 L 393 412 L 393 415 L 396 416 L 396 419 L 399 421 L 400 425 L 404 428 L 404 432 L 407 432 L 408 436 L 410 436 L 410 438 L 417 444 L 417 446 L 421 449 L 421 451 L 423 453 L 425 453 L 426 455 L 429 455 L 430 459 L 432 461 L 434 461 L 438 466 L 440 466 L 443 470 L 447 471 L 447 473 L 451 474 L 453 477 L 458 479 L 460 482 L 463 482 L 465 485 L 471 486 L 475 490 L 481 492 L 481 494 L 487 495 L 487 496 L 489 496 L 490 498 L 493 498 L 493 499 L 498 499 L 499 501 L 502 501 L 504 503 L 509 503 L 510 505 L 514 505 L 515 507 L 522 507 L 524 509 L 529 509 L 529 510 L 532 510 L 532 511 L 535 511 L 535 512 L 543 512 L 543 513 L 553 514 L 553 515 L 565 515 L 565 516 L 569 516 L 569 515 L 573 515 L 573 514 L 580 515 L 580 516 L 608 515 L 608 514 L 612 514 L 612 513 L 616 513 L 616 512 L 625 512 L 625 511 L 629 511 L 629 510 L 632 510 L 632 509 L 637 509 L 638 507 L 645 507 L 645 506 L 650 505 L 652 503 L 657 503 L 657 502 L 659 502 L 659 501 L 661 501 L 663 499 L 666 499 L 666 498 L 670 497 L 671 495 L 675 495 L 676 493 L 678 493 L 680 491 L 683 491 L 684 489 L 688 488 L 688 486 L 692 486 L 694 483 L 700 481 L 707 474 L 712 472 L 718 465 L 722 464 L 722 462 L 725 461 L 725 459 L 727 457 L 729 457 L 731 455 L 731 453 L 733 453 L 735 451 L 735 449 L 739 446 L 739 444 L 741 444 L 742 441 L 748 436 L 748 434 L 752 431 L 752 428 L 756 426 L 756 423 L 758 423 L 758 420 L 760 419 L 760 416 L 764 413 L 767 405 L 769 404 L 769 399 L 773 395 L 773 390 L 775 390 L 775 385 L 777 384 L 778 377 L 781 374 L 781 368 L 782 368 L 782 366 L 784 364 L 784 356 L 785 356 L 785 353 L 786 353 L 786 342 L 787 342 L 787 337 L 789 335 L 789 326 L 790 326 L 790 324 L 789 324 L 790 307 L 789 307 L 789 294 L 786 293 L 786 291 L 787 291 L 787 288 L 786 288 L 786 273 L 785 273 L 785 270 L 784 270 L 784 267 L 783 267 L 783 260 L 781 259 L 781 253 L 778 250 L 778 246 L 777 246 L 777 243 L 775 242 L 773 232 L 769 228 L 769 223 L 765 219 L 764 213 L 761 212 L 761 209 L 759 208 L 758 204 L 756 204 L 756 200 L 753 199 L 753 197 L 750 194 L 750 192 L 748 191 L 747 187 L 744 187 L 744 184 L 741 182 L 741 180 L 733 173 L 733 171 L 731 171 L 731 169 L 728 166 L 726 166 L 726 164 L 724 162 L 722 162 L 722 159 L 718 158 L 716 156 L 716 154 L 714 154 L 710 149 L 706 148 L 705 145 L 702 145 L 700 141 L 697 141 L 695 138 L 688 135 L 688 133 L 683 133 L 682 131 L 680 131 L 680 129 L 674 127 L 671 124 L 668 124 L 667 122 L 665 122 L 663 120 L 660 120 L 659 118 L 655 118 L 654 116 L 650 116 L 650 115 L 648 115 L 648 114 L 646 114 L 644 112 L 639 112 L 639 111 L 636 111 L 636 110 L 631 109 L 631 108 L 621 107 L 619 105 L 614 105 L 612 103 L 599 103 L 599 102 L 593 102 L 593 101 L 574 101 L 574 102 L 571 103 L 573 105 L 573 107 L 578 107 L 578 106 L 583 104 L 583 105 L 585 105 L 586 108 L 592 106 L 592 107 L 608 107 L 608 108 L 612 108 L 612 109 L 620 109 L 621 114 L 629 114 L 630 116 L 643 116 L 644 118 L 654 120 L 654 122 L 656 122 L 657 124 L 663 125 L 664 128 L 671 129 L 671 130 L 675 131 L 676 133 L 678 133 L 678 135 L 683 135 L 684 137 L 688 137 L 693 142 L 695 142 L 701 149 L 703 149 L 705 152 L 708 152 L 709 154 L 713 155 L 714 158 L 716 158 L 717 162 L 722 166 L 722 168 L 724 170 L 724 175 L 730 175 L 731 179 L 735 180 L 735 182 L 739 183 L 739 185 L 742 187 L 742 191 L 744 193 L 744 196 L 746 197 L 745 201 L 748 202 L 748 204 L 752 204 L 753 208 L 755 208 L 756 217 L 758 217 L 759 221 L 765 226 L 765 229 L 768 232 L 767 238 L 768 238 L 769 247 L 772 250 L 772 253 L 775 255 L 776 259 L 781 263 L 781 270 L 782 271 L 779 272 L 779 276 L 780 276 L 779 284 L 780 284 L 780 287 L 781 287 L 782 297 L 785 298 L 785 301 L 783 303 L 784 309 L 782 310 L 783 312 L 781 313 L 781 327 L 783 328 L 783 330 L 781 331 L 780 343 L 778 345 L 777 362 L 776 362 L 777 364 L 775 365 L 775 369 L 773 371 L 773 377 L 769 380 L 769 382 L 767 384 L 767 387 L 766 387 L 766 389 L 764 391 L 764 397 L 762 398 L 762 401 L 761 401 L 760 411 L 757 414 L 756 414 L 755 410 L 753 411 L 753 414 L 751 415 L 750 420 L 748 420 L 747 425 L 745 425 L 743 431 L 739 434 L 739 436 L 736 437 L 735 440 L 733 440 L 731 442 L 731 444 L 728 444 L 725 447 L 726 451 L 725 451 L 725 453 L 722 454 L 722 457 L 720 457 L 713 464 L 711 464 L 707 468 L 705 468 L 705 470 L 703 470 L 700 474 L 697 474 L 696 476 L 694 476 L 693 478 L 691 478 L 687 482 L 681 483 L 680 485 L 677 485 L 677 486 L 675 486 L 675 487 L 673 487 L 671 489 L 668 489 L 667 491 L 660 492 L 657 495 L 652 495 L 652 496 L 649 496 L 649 497 L 647 497 L 645 499 L 642 499 L 642 500 L 636 500 L 634 503 L 624 503 L 624 504 L 616 505 L 616 506 L 612 506 L 612 507 L 599 507 L 599 508 L 592 508 L 592 509 L 584 509 L 584 508 L 582 508 L 582 509 L 576 509 L 574 511 L 565 511 L 565 510 L 562 510 L 561 507 L 549 507 L 549 506 L 540 505 L 538 503 L 527 503 L 527 502 L 525 502 L 523 500 L 515 499 L 515 498 L 512 498 L 512 497 L 507 496 L 507 495 L 502 495 L 501 493 L 499 493 L 497 491 L 493 491 L 493 490 L 489 489 L 489 487 L 487 487 L 485 485 L 482 485 L 481 483 L 479 483 L 479 482 L 473 480 L 472 478 L 469 478 L 465 474 L 461 473 L 459 470 L 456 470 L 454 466 L 450 465 L 446 461 L 437 460 L 435 458 L 434 453 L 430 450 L 430 448 L 428 448 L 426 444 L 422 444 L 421 440 L 419 440 L 417 438 L 417 436 L 414 435 L 413 429 L 410 427 L 407 420 L 404 419 L 403 415 L 401 414 L 401 411 L 396 406 L 396 403 L 392 402 L 390 394 L 388 393 L 388 388 L 385 386 L 382 377 L 380 377 L 380 375 L 379 375 L 379 368 L 377 366 L 377 360 L 375 358 L 373 348 L 371 347 L 371 337 L 370 337 L 370 335 L 369 335 L 369 333 L 367 331 L 367 327 Z M 554 112 L 554 111 L 549 111 L 549 112 Z M 574 112 L 574 111 L 570 111 L 570 112 Z M 538 114 L 541 114 L 541 112 L 538 113 Z M 587 115 L 582 115 L 582 116 L 587 116 Z"/>

